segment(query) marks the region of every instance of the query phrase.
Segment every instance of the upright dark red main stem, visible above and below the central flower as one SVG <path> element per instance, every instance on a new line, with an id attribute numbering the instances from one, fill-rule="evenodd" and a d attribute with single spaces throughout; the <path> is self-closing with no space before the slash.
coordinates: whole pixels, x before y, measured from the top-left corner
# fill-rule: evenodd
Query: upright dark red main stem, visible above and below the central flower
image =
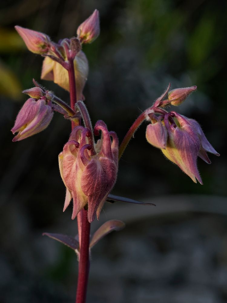
<path id="1" fill-rule="evenodd" d="M 69 88 L 70 88 L 70 106 L 74 110 L 77 102 L 76 82 L 73 60 L 69 60 L 70 68 L 68 69 L 69 75 Z M 72 121 L 72 129 L 76 123 Z M 79 119 L 78 119 L 79 125 Z M 87 282 L 89 275 L 89 243 L 90 243 L 90 223 L 87 219 L 87 210 L 82 209 L 77 215 L 78 235 L 80 243 L 80 256 L 79 256 L 79 271 L 77 280 L 77 295 L 76 303 L 85 303 L 87 293 Z"/>

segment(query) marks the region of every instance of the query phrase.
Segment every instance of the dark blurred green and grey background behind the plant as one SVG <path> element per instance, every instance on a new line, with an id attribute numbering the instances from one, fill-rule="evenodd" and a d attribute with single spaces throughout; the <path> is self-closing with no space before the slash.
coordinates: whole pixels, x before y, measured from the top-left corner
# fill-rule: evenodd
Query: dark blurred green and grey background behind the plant
<path id="1" fill-rule="evenodd" d="M 74 302 L 74 251 L 43 232 L 77 234 L 58 154 L 70 123 L 58 113 L 44 132 L 12 142 L 10 132 L 32 78 L 69 101 L 66 91 L 40 80 L 42 58 L 27 50 L 14 25 L 76 35 L 97 8 L 99 38 L 83 51 L 90 72 L 84 89 L 93 125 L 107 123 L 122 140 L 135 118 L 172 88 L 197 85 L 177 110 L 202 125 L 221 154 L 198 160 L 195 184 L 146 142 L 146 123 L 123 154 L 113 194 L 153 206 L 104 205 L 100 221 L 125 221 L 93 248 L 88 303 L 222 303 L 227 301 L 226 1 L 2 0 L 0 6 L 1 252 L 0 302 Z"/>

